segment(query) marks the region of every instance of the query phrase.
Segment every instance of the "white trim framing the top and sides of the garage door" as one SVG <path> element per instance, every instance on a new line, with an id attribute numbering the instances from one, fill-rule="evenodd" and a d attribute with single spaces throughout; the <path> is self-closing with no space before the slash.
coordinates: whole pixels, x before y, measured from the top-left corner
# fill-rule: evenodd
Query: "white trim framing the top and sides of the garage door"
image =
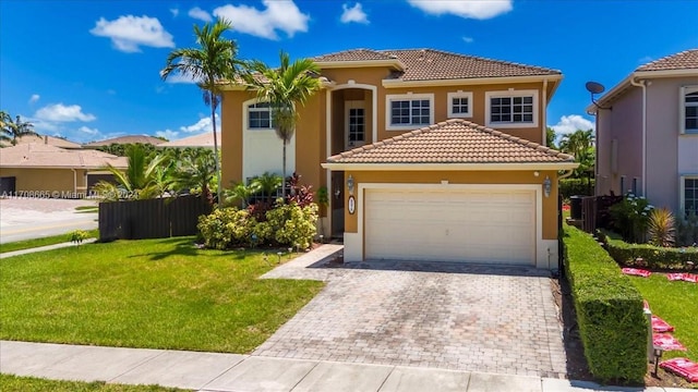
<path id="1" fill-rule="evenodd" d="M 366 189 L 423 189 L 423 191 L 533 191 L 535 197 L 535 234 L 534 234 L 534 257 L 535 266 L 538 268 L 550 268 L 547 256 L 544 250 L 543 235 L 543 196 L 542 187 L 540 184 L 449 184 L 443 182 L 441 184 L 425 184 L 425 183 L 360 183 L 357 201 L 358 201 L 358 233 L 356 237 L 347 237 L 345 235 L 345 242 L 359 242 L 351 246 L 354 249 L 360 249 L 361 255 L 357 255 L 361 260 L 364 260 L 365 256 L 365 191 Z M 349 244 L 346 244 L 349 245 Z M 347 246 L 349 247 L 349 246 Z"/>

